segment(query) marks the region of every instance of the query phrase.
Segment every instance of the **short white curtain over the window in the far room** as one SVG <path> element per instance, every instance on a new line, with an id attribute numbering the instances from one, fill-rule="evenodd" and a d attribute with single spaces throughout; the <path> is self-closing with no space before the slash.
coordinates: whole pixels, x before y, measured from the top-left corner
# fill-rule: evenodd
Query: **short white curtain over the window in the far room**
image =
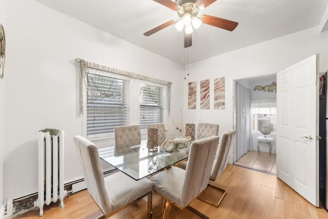
<path id="1" fill-rule="evenodd" d="M 275 97 L 252 99 L 251 114 L 277 114 L 276 102 Z"/>

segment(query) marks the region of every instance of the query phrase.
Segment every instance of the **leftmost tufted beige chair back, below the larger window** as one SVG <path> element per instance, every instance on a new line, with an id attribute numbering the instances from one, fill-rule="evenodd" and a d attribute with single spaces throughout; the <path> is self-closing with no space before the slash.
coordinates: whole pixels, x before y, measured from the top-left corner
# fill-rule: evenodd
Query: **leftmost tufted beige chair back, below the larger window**
<path id="1" fill-rule="evenodd" d="M 114 156 L 121 156 L 129 153 L 131 146 L 140 145 L 140 126 L 117 126 L 114 128 L 115 150 Z"/>

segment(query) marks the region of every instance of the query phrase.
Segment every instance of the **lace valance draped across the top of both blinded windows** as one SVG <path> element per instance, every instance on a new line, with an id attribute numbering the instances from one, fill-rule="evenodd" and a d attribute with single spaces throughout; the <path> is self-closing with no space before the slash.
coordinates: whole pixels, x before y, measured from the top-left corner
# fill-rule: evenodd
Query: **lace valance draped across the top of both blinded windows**
<path id="1" fill-rule="evenodd" d="M 79 63 L 79 114 L 84 111 L 84 103 L 93 103 L 102 98 L 120 98 L 122 92 L 130 91 L 130 83 L 138 80 L 139 84 L 149 84 L 149 82 L 161 84 L 166 87 L 166 93 L 162 99 L 153 99 L 154 87 L 151 85 L 143 86 L 145 95 L 148 95 L 154 102 L 161 102 L 167 107 L 170 114 L 171 106 L 171 85 L 172 82 L 163 81 L 153 77 L 136 74 L 116 68 L 102 66 L 95 63 L 76 58 Z M 118 80 L 119 79 L 119 80 Z M 124 86 L 122 81 L 125 83 Z M 100 86 L 99 84 L 104 84 Z M 97 85 L 97 86 L 95 86 Z"/>

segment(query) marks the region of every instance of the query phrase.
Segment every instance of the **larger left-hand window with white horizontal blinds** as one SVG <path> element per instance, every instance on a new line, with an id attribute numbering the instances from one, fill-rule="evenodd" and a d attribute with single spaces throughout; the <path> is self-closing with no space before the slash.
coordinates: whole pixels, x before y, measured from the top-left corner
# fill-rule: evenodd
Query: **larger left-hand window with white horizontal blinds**
<path id="1" fill-rule="evenodd" d="M 115 126 L 128 125 L 128 82 L 91 73 L 87 77 L 87 136 L 106 136 L 114 133 Z M 99 91 L 101 96 L 93 99 Z"/>

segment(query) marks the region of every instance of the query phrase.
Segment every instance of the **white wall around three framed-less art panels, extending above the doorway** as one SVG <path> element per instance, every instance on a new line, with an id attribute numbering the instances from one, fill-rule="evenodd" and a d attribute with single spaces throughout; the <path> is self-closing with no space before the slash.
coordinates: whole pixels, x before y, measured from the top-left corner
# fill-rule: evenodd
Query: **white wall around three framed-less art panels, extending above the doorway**
<path id="1" fill-rule="evenodd" d="M 223 42 L 222 42 L 223 43 Z M 233 128 L 233 80 L 268 75 L 320 53 L 320 71 L 328 69 L 328 31 L 313 27 L 226 54 L 190 64 L 184 85 L 184 115 L 187 123 L 217 123 L 219 134 Z M 213 79 L 225 77 L 226 109 L 214 110 Z M 210 109 L 200 110 L 199 83 L 210 79 Z M 197 107 L 188 110 L 188 83 L 197 82 Z"/>

